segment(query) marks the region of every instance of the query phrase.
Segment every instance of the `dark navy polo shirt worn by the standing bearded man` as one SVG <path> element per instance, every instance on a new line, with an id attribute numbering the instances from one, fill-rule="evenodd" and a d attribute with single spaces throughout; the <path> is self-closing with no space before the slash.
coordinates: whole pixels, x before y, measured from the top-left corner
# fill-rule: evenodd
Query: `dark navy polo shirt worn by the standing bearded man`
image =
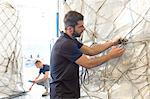
<path id="1" fill-rule="evenodd" d="M 63 33 L 51 52 L 51 99 L 79 98 L 79 65 L 75 61 L 82 56 L 82 43 Z"/>

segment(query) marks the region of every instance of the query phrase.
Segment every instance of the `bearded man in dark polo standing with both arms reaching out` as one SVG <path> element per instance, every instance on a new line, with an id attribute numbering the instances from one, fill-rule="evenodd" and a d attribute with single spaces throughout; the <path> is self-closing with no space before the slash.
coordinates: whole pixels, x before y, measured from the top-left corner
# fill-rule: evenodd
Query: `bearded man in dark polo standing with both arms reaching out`
<path id="1" fill-rule="evenodd" d="M 65 33 L 56 41 L 51 52 L 51 99 L 78 99 L 80 98 L 79 65 L 93 68 L 104 62 L 119 57 L 124 49 L 113 47 L 107 55 L 90 59 L 87 57 L 119 44 L 117 41 L 108 41 L 88 47 L 78 42 L 84 28 L 83 15 L 76 11 L 69 11 L 64 17 Z"/>

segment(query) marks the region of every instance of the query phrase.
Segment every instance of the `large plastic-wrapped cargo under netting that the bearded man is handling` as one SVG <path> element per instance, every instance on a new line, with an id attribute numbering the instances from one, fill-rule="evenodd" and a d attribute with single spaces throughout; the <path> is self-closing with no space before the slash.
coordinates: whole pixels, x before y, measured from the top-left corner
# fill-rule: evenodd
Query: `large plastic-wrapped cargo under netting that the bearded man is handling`
<path id="1" fill-rule="evenodd" d="M 120 58 L 81 69 L 81 99 L 150 99 L 150 0 L 60 1 L 60 30 L 67 11 L 85 16 L 84 44 L 92 46 L 116 36 L 128 39 L 121 45 L 125 53 Z"/>

